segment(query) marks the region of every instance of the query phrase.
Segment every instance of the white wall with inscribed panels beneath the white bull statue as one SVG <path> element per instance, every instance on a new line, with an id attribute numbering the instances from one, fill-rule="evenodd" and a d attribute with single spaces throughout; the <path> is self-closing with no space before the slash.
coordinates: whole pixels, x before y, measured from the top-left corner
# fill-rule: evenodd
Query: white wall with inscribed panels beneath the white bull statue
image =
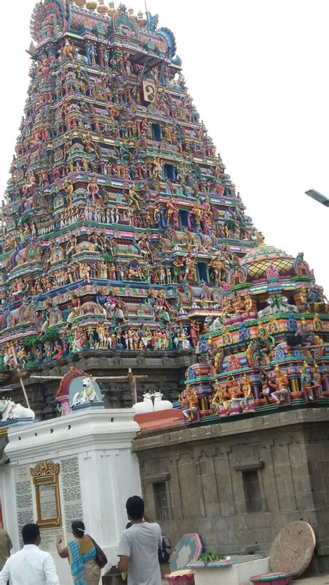
<path id="1" fill-rule="evenodd" d="M 67 560 L 56 552 L 56 537 L 67 543 L 72 520 L 83 520 L 108 561 L 117 563 L 119 537 L 128 521 L 126 500 L 141 494 L 137 457 L 131 452 L 140 427 L 133 416 L 130 409 L 87 409 L 8 431 L 9 461 L 0 467 L 0 489 L 3 525 L 14 551 L 22 544 L 22 525 L 56 516 L 53 484 L 35 488 L 31 468 L 40 461 L 59 464 L 53 468 L 59 469 L 60 522 L 42 529 L 40 548 L 53 554 L 61 585 L 72 581 Z"/>

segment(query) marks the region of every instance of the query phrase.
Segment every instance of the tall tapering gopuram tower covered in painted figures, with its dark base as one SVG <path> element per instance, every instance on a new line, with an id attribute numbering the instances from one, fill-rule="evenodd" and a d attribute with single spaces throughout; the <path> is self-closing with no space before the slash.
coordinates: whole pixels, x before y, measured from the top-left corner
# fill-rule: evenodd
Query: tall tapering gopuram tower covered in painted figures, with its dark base
<path id="1" fill-rule="evenodd" d="M 54 415 L 58 383 L 30 374 L 60 377 L 76 362 L 118 377 L 131 367 L 145 377 L 139 394 L 177 399 L 230 285 L 236 296 L 246 283 L 242 258 L 252 261 L 261 235 L 157 16 L 104 0 L 42 0 L 31 35 L 2 208 L 3 384 L 20 399 L 18 370 L 40 418 Z M 238 301 L 239 313 L 261 308 L 248 293 Z M 126 386 L 105 385 L 108 404 L 130 404 Z"/>

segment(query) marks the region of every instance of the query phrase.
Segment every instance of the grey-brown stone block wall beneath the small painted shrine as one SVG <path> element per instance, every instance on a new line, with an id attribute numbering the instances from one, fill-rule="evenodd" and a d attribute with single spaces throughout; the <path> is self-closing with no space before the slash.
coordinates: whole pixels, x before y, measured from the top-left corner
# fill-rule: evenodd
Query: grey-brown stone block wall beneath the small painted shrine
<path id="1" fill-rule="evenodd" d="M 173 544 L 199 532 L 206 550 L 267 554 L 292 520 L 317 535 L 317 567 L 329 569 L 328 409 L 143 434 L 147 511 Z"/>

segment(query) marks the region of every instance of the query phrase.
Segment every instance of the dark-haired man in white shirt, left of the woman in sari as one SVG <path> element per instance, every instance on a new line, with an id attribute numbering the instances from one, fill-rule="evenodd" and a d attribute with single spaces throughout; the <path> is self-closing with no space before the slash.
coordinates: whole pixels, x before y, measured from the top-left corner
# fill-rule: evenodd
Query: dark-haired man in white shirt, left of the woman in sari
<path id="1" fill-rule="evenodd" d="M 0 572 L 0 585 L 60 585 L 49 552 L 39 550 L 40 529 L 26 524 L 22 529 L 24 547 L 12 554 Z"/>

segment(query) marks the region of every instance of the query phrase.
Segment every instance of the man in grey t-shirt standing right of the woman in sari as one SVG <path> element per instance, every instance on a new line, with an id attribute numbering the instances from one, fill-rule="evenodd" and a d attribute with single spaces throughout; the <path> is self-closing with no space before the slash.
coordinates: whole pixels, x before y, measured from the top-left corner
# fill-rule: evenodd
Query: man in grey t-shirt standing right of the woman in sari
<path id="1" fill-rule="evenodd" d="M 138 495 L 128 498 L 126 510 L 131 527 L 120 538 L 118 568 L 128 572 L 128 585 L 161 585 L 161 528 L 155 522 L 144 522 L 144 502 Z"/>

